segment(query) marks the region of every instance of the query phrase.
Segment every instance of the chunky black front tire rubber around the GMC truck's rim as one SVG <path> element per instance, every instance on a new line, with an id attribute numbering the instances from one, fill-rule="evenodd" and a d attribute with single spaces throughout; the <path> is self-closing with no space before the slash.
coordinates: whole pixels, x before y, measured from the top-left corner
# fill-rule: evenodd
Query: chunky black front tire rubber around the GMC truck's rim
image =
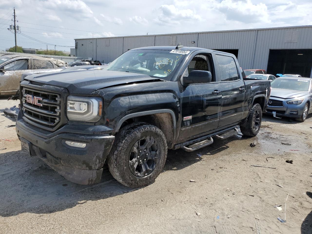
<path id="1" fill-rule="evenodd" d="M 140 134 L 141 132 L 145 130 L 152 130 L 156 133 L 158 133 L 161 138 L 163 139 L 164 143 L 164 157 L 160 159 L 159 165 L 154 169 L 152 174 L 144 178 L 144 183 L 138 183 L 138 181 L 134 181 L 131 179 L 131 177 L 125 177 L 124 170 L 127 168 L 124 168 L 123 164 L 120 162 L 120 158 L 123 157 L 122 153 L 124 153 L 127 150 L 127 147 L 129 144 L 131 144 L 131 140 Z M 133 123 L 125 126 L 123 129 L 121 129 L 118 134 L 115 136 L 114 144 L 110 150 L 110 154 L 107 157 L 107 164 L 108 168 L 110 170 L 110 173 L 112 176 L 120 183 L 127 187 L 131 188 L 140 188 L 146 185 L 149 185 L 150 183 L 154 182 L 154 180 L 157 178 L 157 176 L 161 173 L 163 166 L 166 162 L 167 158 L 167 151 L 168 151 L 168 145 L 166 141 L 166 137 L 163 134 L 163 132 L 157 128 L 156 126 L 144 122 L 138 122 Z M 126 157 L 127 158 L 127 157 Z M 128 158 L 127 158 L 128 160 Z M 129 168 L 128 168 L 129 169 Z M 130 172 L 131 173 L 131 172 Z"/>

